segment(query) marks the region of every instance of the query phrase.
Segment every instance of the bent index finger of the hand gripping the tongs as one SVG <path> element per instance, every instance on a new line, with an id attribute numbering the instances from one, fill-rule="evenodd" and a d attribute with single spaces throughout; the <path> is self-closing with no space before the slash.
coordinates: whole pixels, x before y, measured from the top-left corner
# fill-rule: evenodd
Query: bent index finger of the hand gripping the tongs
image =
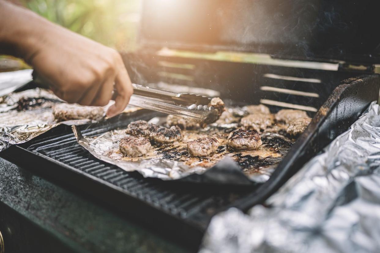
<path id="1" fill-rule="evenodd" d="M 115 88 L 117 90 L 117 97 L 115 99 L 115 104 L 108 108 L 108 117 L 113 117 L 121 113 L 125 107 L 127 107 L 129 99 L 133 93 L 132 83 L 124 65 L 116 75 Z"/>

